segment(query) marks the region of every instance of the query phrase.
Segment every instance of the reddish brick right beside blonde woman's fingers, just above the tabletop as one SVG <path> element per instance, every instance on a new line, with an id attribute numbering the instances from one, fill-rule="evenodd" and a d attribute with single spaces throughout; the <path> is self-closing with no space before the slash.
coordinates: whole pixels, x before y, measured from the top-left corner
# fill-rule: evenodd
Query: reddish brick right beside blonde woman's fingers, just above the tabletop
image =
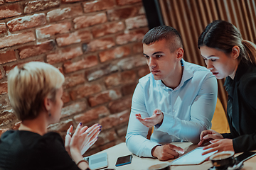
<path id="1" fill-rule="evenodd" d="M 98 147 L 100 145 L 104 145 L 117 139 L 117 133 L 114 130 L 107 130 L 105 132 L 100 132 L 98 140 L 97 142 L 95 142 L 95 145 Z"/>

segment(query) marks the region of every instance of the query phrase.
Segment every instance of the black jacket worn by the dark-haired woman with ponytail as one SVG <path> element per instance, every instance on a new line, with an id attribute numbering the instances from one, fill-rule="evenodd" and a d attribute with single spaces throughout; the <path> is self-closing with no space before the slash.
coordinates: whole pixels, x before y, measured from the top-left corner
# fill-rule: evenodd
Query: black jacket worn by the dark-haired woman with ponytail
<path id="1" fill-rule="evenodd" d="M 228 123 L 230 133 L 224 138 L 233 139 L 235 152 L 256 149 L 256 67 L 240 62 L 234 79 L 227 77 Z"/>

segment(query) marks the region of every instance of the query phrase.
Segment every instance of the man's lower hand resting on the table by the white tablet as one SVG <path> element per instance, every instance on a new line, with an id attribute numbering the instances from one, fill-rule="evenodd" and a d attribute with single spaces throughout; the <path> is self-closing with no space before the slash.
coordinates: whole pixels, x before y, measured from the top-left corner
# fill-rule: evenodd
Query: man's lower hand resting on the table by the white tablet
<path id="1" fill-rule="evenodd" d="M 160 161 L 167 161 L 179 156 L 179 153 L 183 154 L 184 150 L 181 147 L 175 145 L 166 144 L 163 146 L 156 146 L 151 151 L 153 157 L 157 157 Z"/>

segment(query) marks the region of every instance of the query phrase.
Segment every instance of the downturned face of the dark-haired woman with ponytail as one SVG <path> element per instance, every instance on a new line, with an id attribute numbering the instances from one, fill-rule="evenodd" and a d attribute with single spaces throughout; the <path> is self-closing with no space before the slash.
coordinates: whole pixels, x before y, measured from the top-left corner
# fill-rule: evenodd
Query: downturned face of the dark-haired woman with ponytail
<path id="1" fill-rule="evenodd" d="M 236 69 L 238 68 L 237 57 L 225 54 L 215 48 L 207 47 L 206 45 L 200 47 L 201 56 L 206 62 L 207 69 L 213 73 L 217 79 L 224 79 L 231 77 L 234 79 Z"/>

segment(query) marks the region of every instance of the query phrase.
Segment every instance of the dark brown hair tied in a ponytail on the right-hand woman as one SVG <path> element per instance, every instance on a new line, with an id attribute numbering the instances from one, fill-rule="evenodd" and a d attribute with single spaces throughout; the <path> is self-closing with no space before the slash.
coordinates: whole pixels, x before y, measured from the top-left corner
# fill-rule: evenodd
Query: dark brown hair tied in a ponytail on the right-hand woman
<path id="1" fill-rule="evenodd" d="M 248 40 L 242 40 L 238 28 L 227 21 L 216 20 L 208 24 L 198 38 L 198 48 L 203 45 L 226 54 L 230 54 L 237 45 L 240 48 L 238 60 L 250 61 L 256 65 L 256 45 Z"/>

